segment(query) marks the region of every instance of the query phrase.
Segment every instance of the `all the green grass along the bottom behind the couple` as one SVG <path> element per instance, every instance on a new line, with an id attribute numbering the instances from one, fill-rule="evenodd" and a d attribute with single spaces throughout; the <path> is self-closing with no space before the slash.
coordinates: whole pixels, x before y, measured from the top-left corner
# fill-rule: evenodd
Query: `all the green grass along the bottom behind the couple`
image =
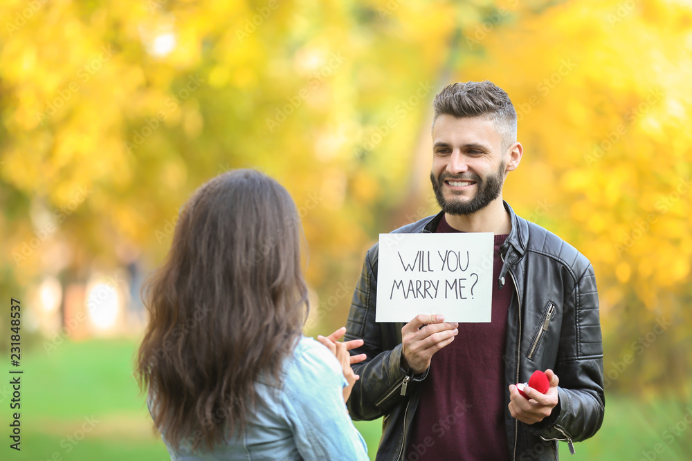
<path id="1" fill-rule="evenodd" d="M 132 377 L 131 340 L 94 340 L 64 344 L 47 354 L 42 347 L 22 354 L 21 451 L 0 448 L 1 460 L 169 460 Z M 8 357 L 1 358 L 8 363 Z M 7 367 L 6 367 L 7 368 Z M 8 375 L 6 375 L 8 376 Z M 9 379 L 0 384 L 0 425 L 8 440 Z M 692 459 L 692 402 L 608 395 L 605 421 L 592 439 L 576 444 L 565 460 Z M 689 409 L 689 413 L 688 413 Z M 93 419 L 91 427 L 87 420 Z M 371 459 L 381 420 L 356 422 Z M 677 424 L 677 429 L 675 425 Z M 674 431 L 668 428 L 673 426 Z M 666 433 L 665 431 L 669 431 Z M 670 434 L 670 435 L 668 435 Z M 78 440 L 80 439 L 80 440 Z M 656 453 L 655 450 L 662 451 Z M 653 458 L 655 456 L 655 458 Z"/>

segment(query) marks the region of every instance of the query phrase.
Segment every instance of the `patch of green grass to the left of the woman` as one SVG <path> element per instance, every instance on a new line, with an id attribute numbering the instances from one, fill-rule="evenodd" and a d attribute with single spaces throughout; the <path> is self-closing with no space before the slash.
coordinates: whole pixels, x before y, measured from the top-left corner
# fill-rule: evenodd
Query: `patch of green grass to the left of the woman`
<path id="1" fill-rule="evenodd" d="M 24 352 L 21 451 L 3 443 L 0 459 L 170 460 L 132 377 L 135 348 L 129 340 L 65 341 L 50 354 Z M 0 385 L 2 427 L 7 390 Z"/>

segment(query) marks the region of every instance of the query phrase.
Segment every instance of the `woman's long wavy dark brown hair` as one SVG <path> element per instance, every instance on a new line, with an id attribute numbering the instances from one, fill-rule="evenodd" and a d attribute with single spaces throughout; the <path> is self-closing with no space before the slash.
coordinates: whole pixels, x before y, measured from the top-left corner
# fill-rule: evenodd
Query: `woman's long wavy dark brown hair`
<path id="1" fill-rule="evenodd" d="M 143 288 L 149 324 L 136 357 L 172 446 L 211 448 L 242 431 L 260 375 L 280 382 L 307 314 L 301 236 L 291 196 L 258 171 L 221 174 L 185 204 Z"/>

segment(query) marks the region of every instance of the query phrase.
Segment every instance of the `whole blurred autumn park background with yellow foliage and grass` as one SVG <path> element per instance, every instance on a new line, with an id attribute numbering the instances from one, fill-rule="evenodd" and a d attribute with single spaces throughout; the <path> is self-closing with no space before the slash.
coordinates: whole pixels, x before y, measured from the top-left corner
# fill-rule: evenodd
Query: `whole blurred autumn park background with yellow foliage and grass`
<path id="1" fill-rule="evenodd" d="M 605 422 L 563 458 L 692 458 L 691 1 L 8 0 L 0 27 L 1 459 L 168 459 L 139 289 L 222 171 L 289 189 L 306 334 L 342 326 L 379 232 L 437 211 L 432 97 L 482 79 L 518 111 L 506 200 L 597 274 Z"/>

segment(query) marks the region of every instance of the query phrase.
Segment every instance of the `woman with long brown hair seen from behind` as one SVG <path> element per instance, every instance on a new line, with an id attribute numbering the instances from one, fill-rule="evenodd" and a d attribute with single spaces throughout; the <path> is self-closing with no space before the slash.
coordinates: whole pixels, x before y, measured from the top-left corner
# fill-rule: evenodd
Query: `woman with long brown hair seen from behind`
<path id="1" fill-rule="evenodd" d="M 343 328 L 302 336 L 295 204 L 253 170 L 217 176 L 181 211 L 145 285 L 136 374 L 173 460 L 366 460 L 345 408 L 357 379 Z M 337 356 L 337 359 L 334 358 Z M 345 379 L 345 376 L 348 378 Z"/>

